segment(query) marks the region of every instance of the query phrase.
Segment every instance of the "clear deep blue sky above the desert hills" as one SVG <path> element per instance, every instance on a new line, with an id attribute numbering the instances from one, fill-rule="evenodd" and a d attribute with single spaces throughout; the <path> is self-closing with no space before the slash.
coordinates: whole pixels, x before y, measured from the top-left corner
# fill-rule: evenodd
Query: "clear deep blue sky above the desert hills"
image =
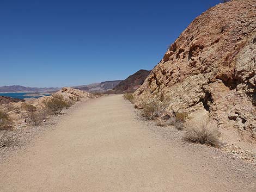
<path id="1" fill-rule="evenodd" d="M 151 70 L 218 0 L 0 1 L 0 86 L 72 86 Z"/>

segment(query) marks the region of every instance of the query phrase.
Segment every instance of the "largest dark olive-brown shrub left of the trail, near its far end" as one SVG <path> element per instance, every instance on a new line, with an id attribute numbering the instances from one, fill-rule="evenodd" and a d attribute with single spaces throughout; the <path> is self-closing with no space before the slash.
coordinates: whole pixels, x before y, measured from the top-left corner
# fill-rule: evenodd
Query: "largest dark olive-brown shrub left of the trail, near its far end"
<path id="1" fill-rule="evenodd" d="M 62 112 L 63 109 L 70 107 L 69 103 L 65 102 L 62 96 L 52 97 L 45 101 L 44 104 L 49 112 L 53 113 L 54 115 L 57 115 Z"/>

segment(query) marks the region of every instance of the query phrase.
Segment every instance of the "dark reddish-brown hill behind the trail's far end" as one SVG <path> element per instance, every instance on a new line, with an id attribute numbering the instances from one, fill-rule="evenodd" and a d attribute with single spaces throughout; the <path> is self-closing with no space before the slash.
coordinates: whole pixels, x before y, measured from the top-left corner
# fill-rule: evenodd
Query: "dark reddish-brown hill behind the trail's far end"
<path id="1" fill-rule="evenodd" d="M 127 77 L 125 80 L 122 80 L 117 86 L 113 88 L 113 93 L 123 94 L 124 92 L 134 92 L 139 86 L 141 86 L 148 77 L 150 71 L 139 70 L 133 75 Z"/>

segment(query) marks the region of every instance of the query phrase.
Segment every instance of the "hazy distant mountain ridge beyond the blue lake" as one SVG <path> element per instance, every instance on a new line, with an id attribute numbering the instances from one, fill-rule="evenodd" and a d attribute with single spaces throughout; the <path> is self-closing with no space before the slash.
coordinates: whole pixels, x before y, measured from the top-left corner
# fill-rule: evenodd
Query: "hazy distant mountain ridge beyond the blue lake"
<path id="1" fill-rule="evenodd" d="M 0 86 L 0 92 L 53 92 L 58 90 L 60 88 L 31 88 L 21 85 Z"/>

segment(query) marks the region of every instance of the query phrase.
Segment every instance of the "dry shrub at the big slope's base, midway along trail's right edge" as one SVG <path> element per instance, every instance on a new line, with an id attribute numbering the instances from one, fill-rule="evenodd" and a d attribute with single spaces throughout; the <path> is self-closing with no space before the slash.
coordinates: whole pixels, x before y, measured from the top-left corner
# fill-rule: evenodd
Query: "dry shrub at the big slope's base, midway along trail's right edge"
<path id="1" fill-rule="evenodd" d="M 160 96 L 149 99 L 147 102 L 142 103 L 142 116 L 150 120 L 155 120 L 166 112 L 169 103 L 168 97 L 163 98 L 163 96 Z"/>

